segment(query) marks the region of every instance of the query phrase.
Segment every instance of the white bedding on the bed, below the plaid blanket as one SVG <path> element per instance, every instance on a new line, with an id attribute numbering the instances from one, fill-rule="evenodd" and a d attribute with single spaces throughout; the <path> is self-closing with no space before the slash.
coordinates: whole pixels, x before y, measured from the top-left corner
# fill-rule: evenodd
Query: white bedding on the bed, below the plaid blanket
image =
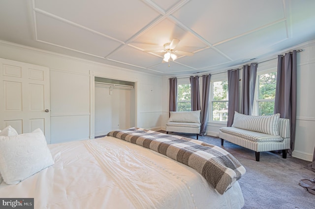
<path id="1" fill-rule="evenodd" d="M 0 198 L 34 198 L 35 209 L 240 209 L 236 182 L 223 195 L 195 170 L 114 137 L 49 145 L 55 164 Z"/>

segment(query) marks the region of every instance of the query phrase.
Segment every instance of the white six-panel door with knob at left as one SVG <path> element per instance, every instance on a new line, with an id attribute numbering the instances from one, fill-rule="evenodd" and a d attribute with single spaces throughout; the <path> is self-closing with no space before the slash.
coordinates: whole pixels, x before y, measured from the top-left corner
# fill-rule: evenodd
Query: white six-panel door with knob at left
<path id="1" fill-rule="evenodd" d="M 0 130 L 19 134 L 40 128 L 50 143 L 49 68 L 0 59 Z"/>

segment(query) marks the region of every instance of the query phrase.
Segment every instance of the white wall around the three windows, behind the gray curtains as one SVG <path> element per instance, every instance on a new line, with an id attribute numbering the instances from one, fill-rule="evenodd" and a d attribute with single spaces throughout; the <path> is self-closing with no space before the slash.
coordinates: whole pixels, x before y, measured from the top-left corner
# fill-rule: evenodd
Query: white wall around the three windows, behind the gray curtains
<path id="1" fill-rule="evenodd" d="M 292 49 L 303 49 L 302 52 L 297 54 L 297 120 L 295 149 L 292 155 L 297 158 L 312 161 L 315 147 L 315 40 L 284 50 L 283 52 L 279 52 L 279 54 L 284 54 L 284 52 L 291 51 Z M 260 62 L 257 71 L 265 71 L 272 68 L 277 69 L 277 55 L 275 55 L 274 58 L 275 59 L 272 60 L 267 59 L 269 61 Z M 223 70 L 224 69 L 222 69 L 222 71 Z M 225 70 L 227 71 L 228 69 Z M 226 73 L 213 75 L 211 76 L 211 81 L 220 80 L 224 76 L 227 79 Z M 240 77 L 241 76 L 242 71 L 240 71 Z M 189 76 L 186 75 L 185 77 Z M 163 98 L 163 103 L 167 104 L 169 95 L 168 78 L 169 77 L 163 77 L 162 81 L 163 94 L 167 94 L 167 97 Z M 241 89 L 242 87 L 240 86 L 240 92 Z M 162 127 L 165 128 L 165 123 L 168 119 L 168 106 L 163 105 L 162 107 Z M 207 135 L 219 136 L 219 128 L 223 126 L 226 126 L 226 123 L 209 121 L 207 125 Z"/>

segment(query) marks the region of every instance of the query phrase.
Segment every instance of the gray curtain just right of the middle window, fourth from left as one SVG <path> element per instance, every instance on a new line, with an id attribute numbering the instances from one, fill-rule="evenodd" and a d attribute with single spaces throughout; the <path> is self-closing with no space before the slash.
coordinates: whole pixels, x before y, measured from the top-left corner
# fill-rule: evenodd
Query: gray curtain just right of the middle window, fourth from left
<path id="1" fill-rule="evenodd" d="M 228 114 L 227 127 L 232 126 L 234 111 L 239 111 L 239 69 L 227 71 L 228 80 Z"/>

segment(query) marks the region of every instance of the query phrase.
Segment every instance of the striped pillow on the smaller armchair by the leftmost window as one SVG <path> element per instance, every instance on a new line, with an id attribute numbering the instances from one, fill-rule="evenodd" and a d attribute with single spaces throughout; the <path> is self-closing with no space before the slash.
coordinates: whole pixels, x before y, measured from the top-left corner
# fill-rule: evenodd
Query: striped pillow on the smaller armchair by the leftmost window
<path id="1" fill-rule="evenodd" d="M 195 123 L 200 123 L 200 112 L 201 112 L 201 110 L 170 112 L 170 117 L 169 117 L 167 122 L 195 122 Z"/>

